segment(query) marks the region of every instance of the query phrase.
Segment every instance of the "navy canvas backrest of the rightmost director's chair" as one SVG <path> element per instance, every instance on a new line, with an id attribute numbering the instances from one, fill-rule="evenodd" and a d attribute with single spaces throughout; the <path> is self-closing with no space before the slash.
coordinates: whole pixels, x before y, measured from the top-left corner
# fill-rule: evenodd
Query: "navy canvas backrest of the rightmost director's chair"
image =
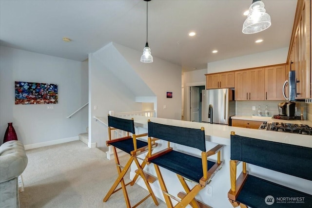
<path id="1" fill-rule="evenodd" d="M 308 147 L 231 135 L 231 160 L 312 180 L 312 148 Z"/>

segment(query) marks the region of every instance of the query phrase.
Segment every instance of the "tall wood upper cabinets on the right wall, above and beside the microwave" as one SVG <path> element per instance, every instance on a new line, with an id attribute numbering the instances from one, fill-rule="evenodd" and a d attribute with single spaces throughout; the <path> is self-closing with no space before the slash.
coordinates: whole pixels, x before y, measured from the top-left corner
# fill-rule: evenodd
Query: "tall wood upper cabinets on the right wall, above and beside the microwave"
<path id="1" fill-rule="evenodd" d="M 311 98 L 311 0 L 298 0 L 287 62 L 296 72 L 296 99 Z"/>

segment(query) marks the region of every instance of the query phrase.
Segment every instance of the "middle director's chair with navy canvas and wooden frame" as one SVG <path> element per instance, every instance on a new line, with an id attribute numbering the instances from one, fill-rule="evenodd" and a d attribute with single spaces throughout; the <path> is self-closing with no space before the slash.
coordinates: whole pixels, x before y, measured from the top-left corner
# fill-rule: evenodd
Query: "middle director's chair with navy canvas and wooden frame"
<path id="1" fill-rule="evenodd" d="M 150 151 L 146 160 L 148 163 L 154 164 L 167 207 L 174 207 L 171 198 L 178 202 L 175 208 L 185 208 L 188 204 L 193 208 L 208 207 L 202 202 L 197 201 L 195 196 L 210 183 L 212 177 L 221 168 L 220 150 L 223 146 L 216 145 L 213 149 L 206 151 L 205 131 L 203 127 L 201 129 L 191 129 L 154 123 L 149 120 L 148 136 Z M 152 154 L 152 139 L 155 138 L 167 141 L 167 148 Z M 171 143 L 196 148 L 201 151 L 201 158 L 173 150 L 170 146 Z M 216 153 L 216 162 L 207 159 Z M 181 199 L 176 198 L 176 196 L 168 192 L 159 166 L 176 173 L 186 192 L 179 192 L 177 194 Z M 186 181 L 192 182 L 195 186 L 190 189 Z"/>

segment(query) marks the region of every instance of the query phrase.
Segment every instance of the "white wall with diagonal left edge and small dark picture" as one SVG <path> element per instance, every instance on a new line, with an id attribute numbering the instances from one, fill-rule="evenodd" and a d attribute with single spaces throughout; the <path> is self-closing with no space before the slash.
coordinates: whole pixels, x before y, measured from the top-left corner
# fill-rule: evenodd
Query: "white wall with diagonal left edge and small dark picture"
<path id="1" fill-rule="evenodd" d="M 142 52 L 116 43 L 113 44 L 156 95 L 157 117 L 181 120 L 181 66 L 157 57 L 153 57 L 153 63 L 142 63 L 140 62 Z M 173 98 L 167 98 L 166 92 L 172 92 Z M 164 105 L 166 105 L 166 109 L 163 108 Z"/>

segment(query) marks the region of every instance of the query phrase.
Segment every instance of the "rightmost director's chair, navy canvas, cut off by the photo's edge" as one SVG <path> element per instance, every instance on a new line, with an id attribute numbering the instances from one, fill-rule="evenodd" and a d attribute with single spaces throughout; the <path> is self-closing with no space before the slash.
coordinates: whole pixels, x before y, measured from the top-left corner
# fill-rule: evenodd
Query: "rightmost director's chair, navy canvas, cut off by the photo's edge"
<path id="1" fill-rule="evenodd" d="M 236 178 L 236 166 L 240 161 L 243 170 Z M 244 137 L 231 132 L 231 189 L 228 192 L 233 207 L 312 208 L 311 194 L 251 175 L 247 171 L 247 163 L 312 181 L 312 148 Z M 304 203 L 283 201 L 280 197 L 304 197 Z M 268 202 L 273 204 L 268 205 Z"/>

